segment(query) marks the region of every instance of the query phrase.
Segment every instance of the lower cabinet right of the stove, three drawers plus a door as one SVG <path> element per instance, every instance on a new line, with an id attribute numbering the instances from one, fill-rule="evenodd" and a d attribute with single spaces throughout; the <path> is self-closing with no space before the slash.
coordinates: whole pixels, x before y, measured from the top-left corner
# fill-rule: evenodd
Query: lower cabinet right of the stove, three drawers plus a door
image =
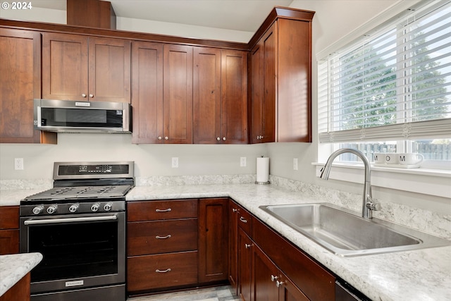
<path id="1" fill-rule="evenodd" d="M 127 206 L 129 295 L 226 283 L 228 198 Z"/>

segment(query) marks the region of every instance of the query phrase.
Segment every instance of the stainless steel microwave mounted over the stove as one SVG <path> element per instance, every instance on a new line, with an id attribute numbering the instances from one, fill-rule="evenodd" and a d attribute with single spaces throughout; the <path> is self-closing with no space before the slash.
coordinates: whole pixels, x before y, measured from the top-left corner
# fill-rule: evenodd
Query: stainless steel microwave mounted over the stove
<path id="1" fill-rule="evenodd" d="M 36 130 L 56 133 L 132 133 L 130 104 L 35 99 Z"/>

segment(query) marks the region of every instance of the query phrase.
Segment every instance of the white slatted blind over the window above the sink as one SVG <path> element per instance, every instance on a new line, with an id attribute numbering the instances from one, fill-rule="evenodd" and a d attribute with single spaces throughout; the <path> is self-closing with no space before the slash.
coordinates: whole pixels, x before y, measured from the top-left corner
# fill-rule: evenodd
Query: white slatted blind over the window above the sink
<path id="1" fill-rule="evenodd" d="M 451 1 L 421 2 L 319 61 L 320 142 L 451 137 Z"/>

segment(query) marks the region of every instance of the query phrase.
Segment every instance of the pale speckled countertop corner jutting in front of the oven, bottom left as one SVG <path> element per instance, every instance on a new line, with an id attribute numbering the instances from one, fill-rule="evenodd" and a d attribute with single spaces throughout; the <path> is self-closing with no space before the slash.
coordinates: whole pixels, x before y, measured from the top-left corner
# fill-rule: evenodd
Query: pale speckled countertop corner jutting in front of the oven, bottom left
<path id="1" fill-rule="evenodd" d="M 0 296 L 18 283 L 41 260 L 40 253 L 0 255 Z"/>

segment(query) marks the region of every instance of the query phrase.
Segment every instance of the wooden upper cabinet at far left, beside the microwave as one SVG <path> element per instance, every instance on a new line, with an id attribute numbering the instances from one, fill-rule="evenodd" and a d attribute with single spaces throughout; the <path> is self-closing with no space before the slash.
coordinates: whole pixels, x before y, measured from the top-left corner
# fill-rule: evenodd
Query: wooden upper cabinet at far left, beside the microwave
<path id="1" fill-rule="evenodd" d="M 0 28 L 0 143 L 56 143 L 33 126 L 33 99 L 41 97 L 39 32 Z"/>

